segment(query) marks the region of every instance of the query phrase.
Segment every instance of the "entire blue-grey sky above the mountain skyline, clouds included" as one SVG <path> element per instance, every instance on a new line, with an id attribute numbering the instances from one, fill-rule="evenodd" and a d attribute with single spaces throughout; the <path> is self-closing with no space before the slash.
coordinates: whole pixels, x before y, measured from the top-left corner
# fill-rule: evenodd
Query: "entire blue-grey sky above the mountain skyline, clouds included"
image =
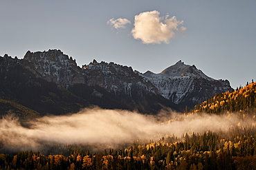
<path id="1" fill-rule="evenodd" d="M 253 0 L 1 1 L 0 56 L 58 49 L 80 66 L 142 73 L 181 60 L 236 88 L 256 81 L 255 9 Z"/>

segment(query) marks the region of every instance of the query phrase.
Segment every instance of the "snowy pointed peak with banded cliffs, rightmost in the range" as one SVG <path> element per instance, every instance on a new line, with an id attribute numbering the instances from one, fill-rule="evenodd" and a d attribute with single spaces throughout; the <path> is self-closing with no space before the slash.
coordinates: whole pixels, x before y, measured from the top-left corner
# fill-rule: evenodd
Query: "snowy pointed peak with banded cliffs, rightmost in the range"
<path id="1" fill-rule="evenodd" d="M 227 80 L 210 78 L 194 65 L 185 65 L 182 61 L 159 74 L 147 71 L 140 75 L 155 85 L 161 96 L 182 107 L 192 108 L 215 94 L 232 90 Z"/>

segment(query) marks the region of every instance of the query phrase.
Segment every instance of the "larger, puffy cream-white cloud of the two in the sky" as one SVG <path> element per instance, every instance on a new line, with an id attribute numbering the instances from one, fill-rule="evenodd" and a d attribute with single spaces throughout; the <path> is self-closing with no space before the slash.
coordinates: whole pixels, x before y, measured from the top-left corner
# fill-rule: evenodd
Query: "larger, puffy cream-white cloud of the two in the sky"
<path id="1" fill-rule="evenodd" d="M 160 12 L 154 10 L 141 12 L 135 16 L 134 28 L 131 34 L 134 39 L 140 39 L 143 43 L 170 43 L 174 38 L 174 31 L 185 31 L 185 27 L 179 27 L 183 21 L 178 21 L 175 16 L 169 18 L 159 17 Z"/>

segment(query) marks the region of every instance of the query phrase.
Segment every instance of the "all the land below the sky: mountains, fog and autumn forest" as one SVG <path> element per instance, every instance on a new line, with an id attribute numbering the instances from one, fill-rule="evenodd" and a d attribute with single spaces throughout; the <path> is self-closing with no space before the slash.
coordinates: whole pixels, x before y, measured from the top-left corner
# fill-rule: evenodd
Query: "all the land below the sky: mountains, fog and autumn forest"
<path id="1" fill-rule="evenodd" d="M 60 50 L 0 66 L 1 169 L 255 168 L 254 82 L 232 89 L 182 61 L 79 67 Z"/>

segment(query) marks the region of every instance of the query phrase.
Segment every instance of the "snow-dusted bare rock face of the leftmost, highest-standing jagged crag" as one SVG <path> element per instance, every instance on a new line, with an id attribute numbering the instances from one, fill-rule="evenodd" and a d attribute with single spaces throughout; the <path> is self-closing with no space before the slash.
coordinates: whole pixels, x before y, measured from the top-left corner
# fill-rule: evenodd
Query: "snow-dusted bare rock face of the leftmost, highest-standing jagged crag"
<path id="1" fill-rule="evenodd" d="M 30 52 L 24 56 L 24 66 L 39 77 L 58 83 L 63 87 L 84 83 L 84 75 L 80 72 L 75 60 L 68 58 L 60 50 L 48 52 Z"/>

